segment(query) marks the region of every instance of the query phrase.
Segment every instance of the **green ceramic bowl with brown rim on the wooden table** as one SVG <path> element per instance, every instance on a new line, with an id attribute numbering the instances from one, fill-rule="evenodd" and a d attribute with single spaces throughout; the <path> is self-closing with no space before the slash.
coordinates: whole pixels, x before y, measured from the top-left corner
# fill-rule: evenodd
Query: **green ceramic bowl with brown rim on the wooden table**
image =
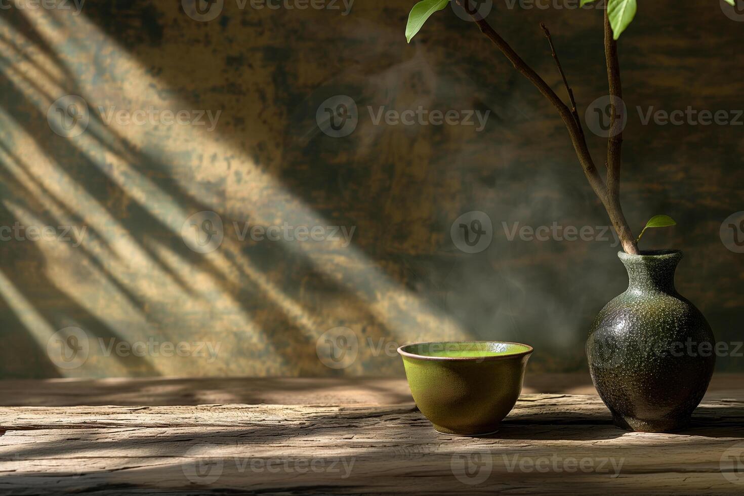
<path id="1" fill-rule="evenodd" d="M 398 348 L 416 406 L 442 434 L 484 436 L 522 391 L 532 347 L 507 341 L 440 341 Z"/>

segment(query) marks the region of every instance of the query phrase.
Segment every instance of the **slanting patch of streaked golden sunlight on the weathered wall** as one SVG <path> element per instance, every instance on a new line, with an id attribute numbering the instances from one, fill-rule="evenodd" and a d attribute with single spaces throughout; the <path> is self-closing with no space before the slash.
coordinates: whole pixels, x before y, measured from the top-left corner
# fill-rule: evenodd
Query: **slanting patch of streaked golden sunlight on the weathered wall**
<path id="1" fill-rule="evenodd" d="M 159 122 L 163 109 L 191 119 L 202 110 L 190 110 L 86 16 L 42 10 L 16 16 L 27 23 L 25 32 L 0 19 L 5 83 L 22 101 L 0 110 L 4 186 L 17 199 L 3 204 L 7 220 L 51 226 L 55 239 L 15 241 L 30 246 L 0 280 L 1 294 L 22 326 L 10 332 L 27 332 L 40 352 L 54 355 L 61 347 L 69 355 L 65 346 L 88 340 L 83 361 L 67 365 L 51 357 L 60 375 L 327 373 L 333 369 L 318 358 L 318 338 L 329 329 L 352 329 L 367 342 L 410 341 L 421 329 L 437 338 L 464 335 L 338 236 L 279 239 L 268 249 L 278 252 L 272 263 L 294 270 L 292 259 L 299 260 L 306 277 L 327 278 L 357 303 L 320 314 L 283 292 L 266 257 L 251 260 L 257 242 L 241 233 L 254 225 L 333 222 L 222 138 L 218 126 Z M 80 108 L 69 110 L 79 101 Z M 85 129 L 68 136 L 60 136 L 65 129 L 44 129 L 58 109 L 69 113 L 62 119 L 80 112 L 85 121 L 71 125 Z M 128 110 L 131 120 L 124 120 L 122 109 L 149 114 Z M 17 120 L 19 112 L 25 122 Z M 203 113 L 213 125 L 221 114 Z M 234 184 L 235 177 L 244 179 Z M 214 212 L 222 222 L 224 239 L 214 251 L 192 251 L 182 239 L 188 219 L 199 212 Z M 61 236 L 66 226 L 80 239 Z M 346 226 L 341 232 L 353 234 Z M 21 280 L 29 269 L 39 271 L 35 280 Z M 267 325 L 271 321 L 280 325 Z M 392 359 L 374 356 L 373 347 L 359 352 L 342 372 L 360 373 L 371 360 Z M 21 367 L 21 361 L 13 365 Z"/>

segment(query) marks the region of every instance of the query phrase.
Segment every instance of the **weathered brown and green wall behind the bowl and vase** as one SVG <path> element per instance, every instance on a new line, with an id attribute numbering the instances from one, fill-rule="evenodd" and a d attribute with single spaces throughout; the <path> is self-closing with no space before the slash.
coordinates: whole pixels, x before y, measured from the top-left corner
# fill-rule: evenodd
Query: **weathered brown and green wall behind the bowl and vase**
<path id="1" fill-rule="evenodd" d="M 223 3 L 209 22 L 177 0 L 0 11 L 0 225 L 55 233 L 0 242 L 0 376 L 399 374 L 391 349 L 439 338 L 522 341 L 533 370 L 583 370 L 589 323 L 626 284 L 618 248 L 504 233 L 607 221 L 554 109 L 474 25 L 447 8 L 406 45 L 412 0 L 356 0 L 347 15 Z M 489 20 L 563 94 L 545 21 L 584 115 L 606 94 L 601 14 L 551 3 L 496 1 Z M 744 126 L 644 125 L 635 109 L 744 108 L 744 22 L 717 3 L 643 1 L 620 40 L 623 205 L 634 228 L 679 222 L 644 246 L 684 249 L 679 291 L 733 349 L 744 254 L 719 228 L 744 210 Z M 88 108 L 80 134 L 84 120 L 52 106 L 70 94 Z M 316 120 L 336 95 L 358 110 L 340 138 Z M 382 106 L 490 115 L 480 132 L 376 124 L 368 107 Z M 155 117 L 107 122 L 137 109 Z M 220 114 L 214 129 L 206 112 L 158 123 L 179 110 Z M 604 141 L 589 141 L 601 165 Z M 493 222 L 475 254 L 450 234 L 472 210 Z M 245 222 L 354 231 L 348 245 L 272 241 L 244 237 Z M 79 236 L 60 241 L 64 226 Z M 217 249 L 193 244 L 204 230 L 222 233 Z"/>

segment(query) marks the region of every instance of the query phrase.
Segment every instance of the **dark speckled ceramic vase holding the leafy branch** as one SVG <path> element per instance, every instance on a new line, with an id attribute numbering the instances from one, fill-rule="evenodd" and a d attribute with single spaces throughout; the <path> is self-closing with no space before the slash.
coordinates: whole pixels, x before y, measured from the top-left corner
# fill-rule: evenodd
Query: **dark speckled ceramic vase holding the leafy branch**
<path id="1" fill-rule="evenodd" d="M 679 431 L 708 389 L 716 362 L 711 326 L 674 289 L 682 251 L 618 254 L 626 292 L 594 319 L 586 355 L 594 387 L 620 428 Z"/>

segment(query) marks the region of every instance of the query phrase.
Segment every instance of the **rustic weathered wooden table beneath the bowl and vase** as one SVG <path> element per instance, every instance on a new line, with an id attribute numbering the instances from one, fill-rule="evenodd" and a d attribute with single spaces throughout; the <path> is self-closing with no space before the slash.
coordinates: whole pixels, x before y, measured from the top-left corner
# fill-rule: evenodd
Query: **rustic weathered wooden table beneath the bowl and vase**
<path id="1" fill-rule="evenodd" d="M 743 494 L 742 379 L 644 434 L 586 376 L 532 374 L 481 439 L 437 434 L 401 379 L 0 381 L 21 405 L 0 408 L 0 494 Z"/>

